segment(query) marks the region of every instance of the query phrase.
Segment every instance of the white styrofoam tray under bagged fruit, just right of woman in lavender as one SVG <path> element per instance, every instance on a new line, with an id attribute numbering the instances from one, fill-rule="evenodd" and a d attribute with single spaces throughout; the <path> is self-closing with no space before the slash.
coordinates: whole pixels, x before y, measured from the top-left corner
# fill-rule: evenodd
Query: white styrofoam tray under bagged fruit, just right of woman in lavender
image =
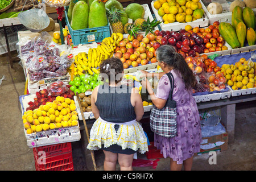
<path id="1" fill-rule="evenodd" d="M 230 98 L 232 92 L 231 89 L 227 92 L 218 92 L 218 93 L 211 93 L 207 95 L 201 95 L 201 96 L 193 96 L 195 98 L 196 103 L 199 102 L 207 102 L 207 101 L 215 101 L 215 100 L 221 100 L 225 98 Z"/>

